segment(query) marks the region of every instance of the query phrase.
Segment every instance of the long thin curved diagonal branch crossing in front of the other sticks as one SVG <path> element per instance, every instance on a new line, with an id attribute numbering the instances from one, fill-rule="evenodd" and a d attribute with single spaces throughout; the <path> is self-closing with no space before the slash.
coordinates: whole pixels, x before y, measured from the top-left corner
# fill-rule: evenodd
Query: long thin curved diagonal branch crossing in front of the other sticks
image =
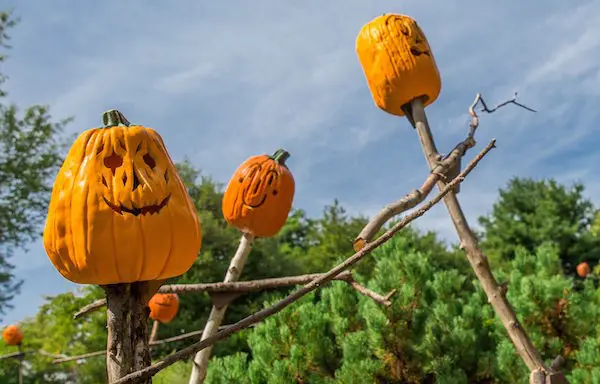
<path id="1" fill-rule="evenodd" d="M 139 379 L 147 378 L 150 376 L 154 376 L 160 370 L 170 366 L 171 364 L 174 364 L 179 360 L 186 359 L 186 358 L 192 356 L 194 353 L 206 348 L 207 346 L 212 345 L 219 340 L 225 339 L 228 336 L 247 328 L 251 324 L 256 324 L 256 323 L 262 321 L 263 319 L 280 312 L 281 310 L 283 310 L 287 306 L 293 304 L 295 301 L 297 301 L 304 295 L 306 295 L 306 294 L 314 291 L 315 289 L 321 287 L 322 285 L 330 282 L 331 280 L 333 280 L 333 278 L 336 275 L 338 275 L 342 271 L 350 268 L 351 266 L 353 266 L 354 264 L 359 262 L 361 259 L 363 259 L 365 256 L 367 256 L 369 253 L 371 253 L 374 249 L 378 248 L 383 243 L 385 243 L 386 241 L 391 239 L 392 236 L 394 236 L 397 232 L 399 232 L 401 229 L 406 227 L 412 221 L 423 216 L 429 209 L 431 209 L 431 207 L 433 207 L 440 200 L 442 200 L 442 198 L 446 194 L 448 194 L 452 189 L 454 189 L 454 187 L 456 185 L 458 185 L 465 179 L 465 177 L 473 170 L 473 168 L 475 168 L 475 166 L 477 166 L 477 164 L 481 161 L 481 159 L 494 147 L 494 144 L 495 144 L 495 140 L 492 140 L 483 149 L 483 151 L 481 151 L 481 153 L 479 153 L 467 165 L 465 170 L 460 175 L 458 175 L 456 178 L 454 178 L 450 183 L 448 183 L 446 188 L 444 188 L 444 190 L 442 190 L 437 196 L 435 196 L 433 199 L 431 199 L 427 203 L 423 204 L 421 206 L 421 208 L 419 208 L 418 210 L 416 210 L 416 211 L 412 212 L 411 214 L 407 215 L 406 217 L 404 217 L 404 219 L 402 219 L 398 223 L 396 223 L 392 228 L 390 228 L 386 233 L 381 235 L 378 239 L 376 239 L 372 243 L 369 243 L 363 249 L 356 252 L 354 255 L 350 256 L 348 259 L 346 259 L 344 262 L 342 262 L 341 264 L 339 264 L 336 267 L 334 267 L 333 269 L 331 269 L 329 272 L 321 275 L 319 278 L 316 278 L 315 280 L 306 284 L 302 288 L 298 289 L 297 291 L 293 292 L 292 294 L 290 294 L 289 296 L 285 297 L 284 299 L 278 301 L 277 303 L 273 304 L 272 306 L 262 309 L 261 311 L 258 311 L 250 316 L 247 316 L 244 319 L 233 324 L 231 327 L 227 327 L 226 329 L 217 332 L 216 334 L 209 337 L 208 339 L 194 343 L 178 352 L 173 353 L 172 355 L 167 356 L 163 360 L 158 361 L 157 363 L 153 364 L 151 367 L 144 368 L 137 372 L 131 373 L 131 374 L 117 380 L 113 384 L 132 383 L 132 382 L 134 382 L 134 380 L 139 380 Z"/>

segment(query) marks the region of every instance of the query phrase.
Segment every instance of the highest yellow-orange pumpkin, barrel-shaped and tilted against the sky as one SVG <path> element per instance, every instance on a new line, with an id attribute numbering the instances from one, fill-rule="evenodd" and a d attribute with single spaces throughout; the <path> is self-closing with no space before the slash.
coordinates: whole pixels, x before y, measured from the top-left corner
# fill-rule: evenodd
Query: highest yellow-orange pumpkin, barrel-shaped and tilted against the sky
<path id="1" fill-rule="evenodd" d="M 356 52 L 375 104 L 404 116 L 402 106 L 424 96 L 424 105 L 440 94 L 440 74 L 417 22 L 408 16 L 385 14 L 365 24 Z"/>

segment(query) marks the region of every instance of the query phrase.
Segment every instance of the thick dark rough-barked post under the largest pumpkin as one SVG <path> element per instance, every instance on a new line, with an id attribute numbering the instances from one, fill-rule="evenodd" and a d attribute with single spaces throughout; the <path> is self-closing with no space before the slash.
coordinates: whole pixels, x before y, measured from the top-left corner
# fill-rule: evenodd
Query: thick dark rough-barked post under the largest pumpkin
<path id="1" fill-rule="evenodd" d="M 151 365 L 148 343 L 150 309 L 145 300 L 148 283 L 113 284 L 104 289 L 108 326 L 106 369 L 108 382 L 113 383 Z M 139 383 L 152 383 L 152 379 Z"/>

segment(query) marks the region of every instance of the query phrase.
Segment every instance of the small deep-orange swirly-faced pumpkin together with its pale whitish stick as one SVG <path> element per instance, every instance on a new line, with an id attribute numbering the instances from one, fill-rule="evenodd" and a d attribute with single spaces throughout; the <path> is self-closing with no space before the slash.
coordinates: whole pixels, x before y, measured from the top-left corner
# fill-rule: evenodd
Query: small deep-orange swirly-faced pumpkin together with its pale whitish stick
<path id="1" fill-rule="evenodd" d="M 225 220 L 242 232 L 225 282 L 238 280 L 255 237 L 277 235 L 285 224 L 294 200 L 294 177 L 286 165 L 290 154 L 278 149 L 271 156 L 252 156 L 234 172 L 223 195 Z M 214 299 L 214 296 L 213 296 Z M 214 300 L 202 340 L 214 335 L 223 321 L 231 297 Z M 212 346 L 199 351 L 192 366 L 190 384 L 204 382 Z"/>

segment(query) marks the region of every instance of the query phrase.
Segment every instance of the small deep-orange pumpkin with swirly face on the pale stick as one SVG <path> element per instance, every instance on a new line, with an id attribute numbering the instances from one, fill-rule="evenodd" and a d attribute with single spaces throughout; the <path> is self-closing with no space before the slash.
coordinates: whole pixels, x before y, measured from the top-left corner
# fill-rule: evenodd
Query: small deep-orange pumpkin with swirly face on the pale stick
<path id="1" fill-rule="evenodd" d="M 295 182 L 283 149 L 273 156 L 253 156 L 233 174 L 223 196 L 225 220 L 257 237 L 275 236 L 292 209 Z"/>

